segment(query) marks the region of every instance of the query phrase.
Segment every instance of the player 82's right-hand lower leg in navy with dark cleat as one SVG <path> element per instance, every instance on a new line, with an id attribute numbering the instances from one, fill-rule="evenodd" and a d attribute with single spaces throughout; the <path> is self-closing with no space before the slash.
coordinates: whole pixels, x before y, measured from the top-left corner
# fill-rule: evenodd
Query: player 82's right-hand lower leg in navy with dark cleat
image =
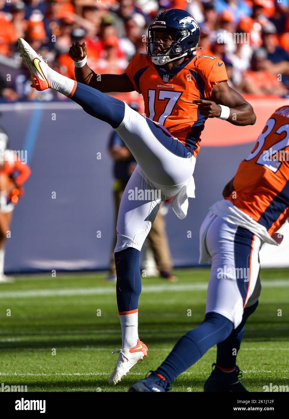
<path id="1" fill-rule="evenodd" d="M 245 392 L 246 388 L 240 383 L 242 377 L 238 365 L 236 365 L 237 354 L 243 338 L 245 324 L 248 317 L 254 313 L 258 301 L 250 307 L 244 308 L 243 318 L 239 326 L 233 329 L 227 339 L 217 344 L 217 361 L 212 365 L 210 377 L 204 385 L 206 392 L 238 391 Z"/>

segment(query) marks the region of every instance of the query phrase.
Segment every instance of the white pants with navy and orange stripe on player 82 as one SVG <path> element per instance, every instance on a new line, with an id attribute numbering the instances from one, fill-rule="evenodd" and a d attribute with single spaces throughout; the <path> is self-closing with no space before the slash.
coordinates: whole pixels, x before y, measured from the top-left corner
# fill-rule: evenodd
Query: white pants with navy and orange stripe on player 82
<path id="1" fill-rule="evenodd" d="M 262 242 L 249 230 L 209 212 L 200 228 L 200 259 L 212 260 L 206 313 L 228 318 L 236 328 L 243 309 L 256 303 L 261 292 L 259 250 Z"/>

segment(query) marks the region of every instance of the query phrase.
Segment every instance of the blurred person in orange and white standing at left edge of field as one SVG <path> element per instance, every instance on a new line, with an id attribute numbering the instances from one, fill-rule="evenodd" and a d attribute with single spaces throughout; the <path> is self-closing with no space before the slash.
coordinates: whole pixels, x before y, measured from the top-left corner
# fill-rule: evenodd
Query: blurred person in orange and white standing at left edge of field
<path id="1" fill-rule="evenodd" d="M 5 240 L 14 206 L 18 204 L 23 194 L 22 186 L 30 176 L 28 165 L 19 160 L 7 146 L 8 135 L 0 127 L 0 283 L 13 281 L 4 275 Z"/>

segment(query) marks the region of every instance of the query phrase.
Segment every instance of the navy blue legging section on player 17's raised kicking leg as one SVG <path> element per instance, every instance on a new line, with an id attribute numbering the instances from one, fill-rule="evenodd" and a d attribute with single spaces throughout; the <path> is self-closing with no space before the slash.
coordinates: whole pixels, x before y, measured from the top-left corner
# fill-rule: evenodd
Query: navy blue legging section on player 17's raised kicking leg
<path id="1" fill-rule="evenodd" d="M 105 121 L 113 128 L 118 128 L 123 122 L 125 104 L 90 86 L 77 83 L 72 100 L 82 106 L 83 110 L 101 121 Z"/>

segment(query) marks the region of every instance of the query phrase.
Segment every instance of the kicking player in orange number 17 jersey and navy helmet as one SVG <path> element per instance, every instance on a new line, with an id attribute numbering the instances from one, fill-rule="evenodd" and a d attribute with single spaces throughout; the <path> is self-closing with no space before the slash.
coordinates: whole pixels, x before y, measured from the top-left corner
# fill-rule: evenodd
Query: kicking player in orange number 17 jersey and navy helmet
<path id="1" fill-rule="evenodd" d="M 228 86 L 223 61 L 196 56 L 199 34 L 188 12 L 165 10 L 149 26 L 147 53 L 136 54 L 121 75 L 95 74 L 87 65 L 85 42 L 73 44 L 69 54 L 77 81 L 52 70 L 26 41 L 18 40 L 32 86 L 55 89 L 110 124 L 138 163 L 118 214 L 115 264 L 122 347 L 115 351 L 119 357 L 110 384 L 147 354 L 138 338 L 140 250 L 162 201 L 175 197 L 174 212 L 180 219 L 186 217 L 205 120 L 220 118 L 235 125 L 256 121 L 252 106 Z M 142 93 L 146 116 L 104 94 L 130 91 Z M 134 199 L 130 191 L 138 191 Z"/>

